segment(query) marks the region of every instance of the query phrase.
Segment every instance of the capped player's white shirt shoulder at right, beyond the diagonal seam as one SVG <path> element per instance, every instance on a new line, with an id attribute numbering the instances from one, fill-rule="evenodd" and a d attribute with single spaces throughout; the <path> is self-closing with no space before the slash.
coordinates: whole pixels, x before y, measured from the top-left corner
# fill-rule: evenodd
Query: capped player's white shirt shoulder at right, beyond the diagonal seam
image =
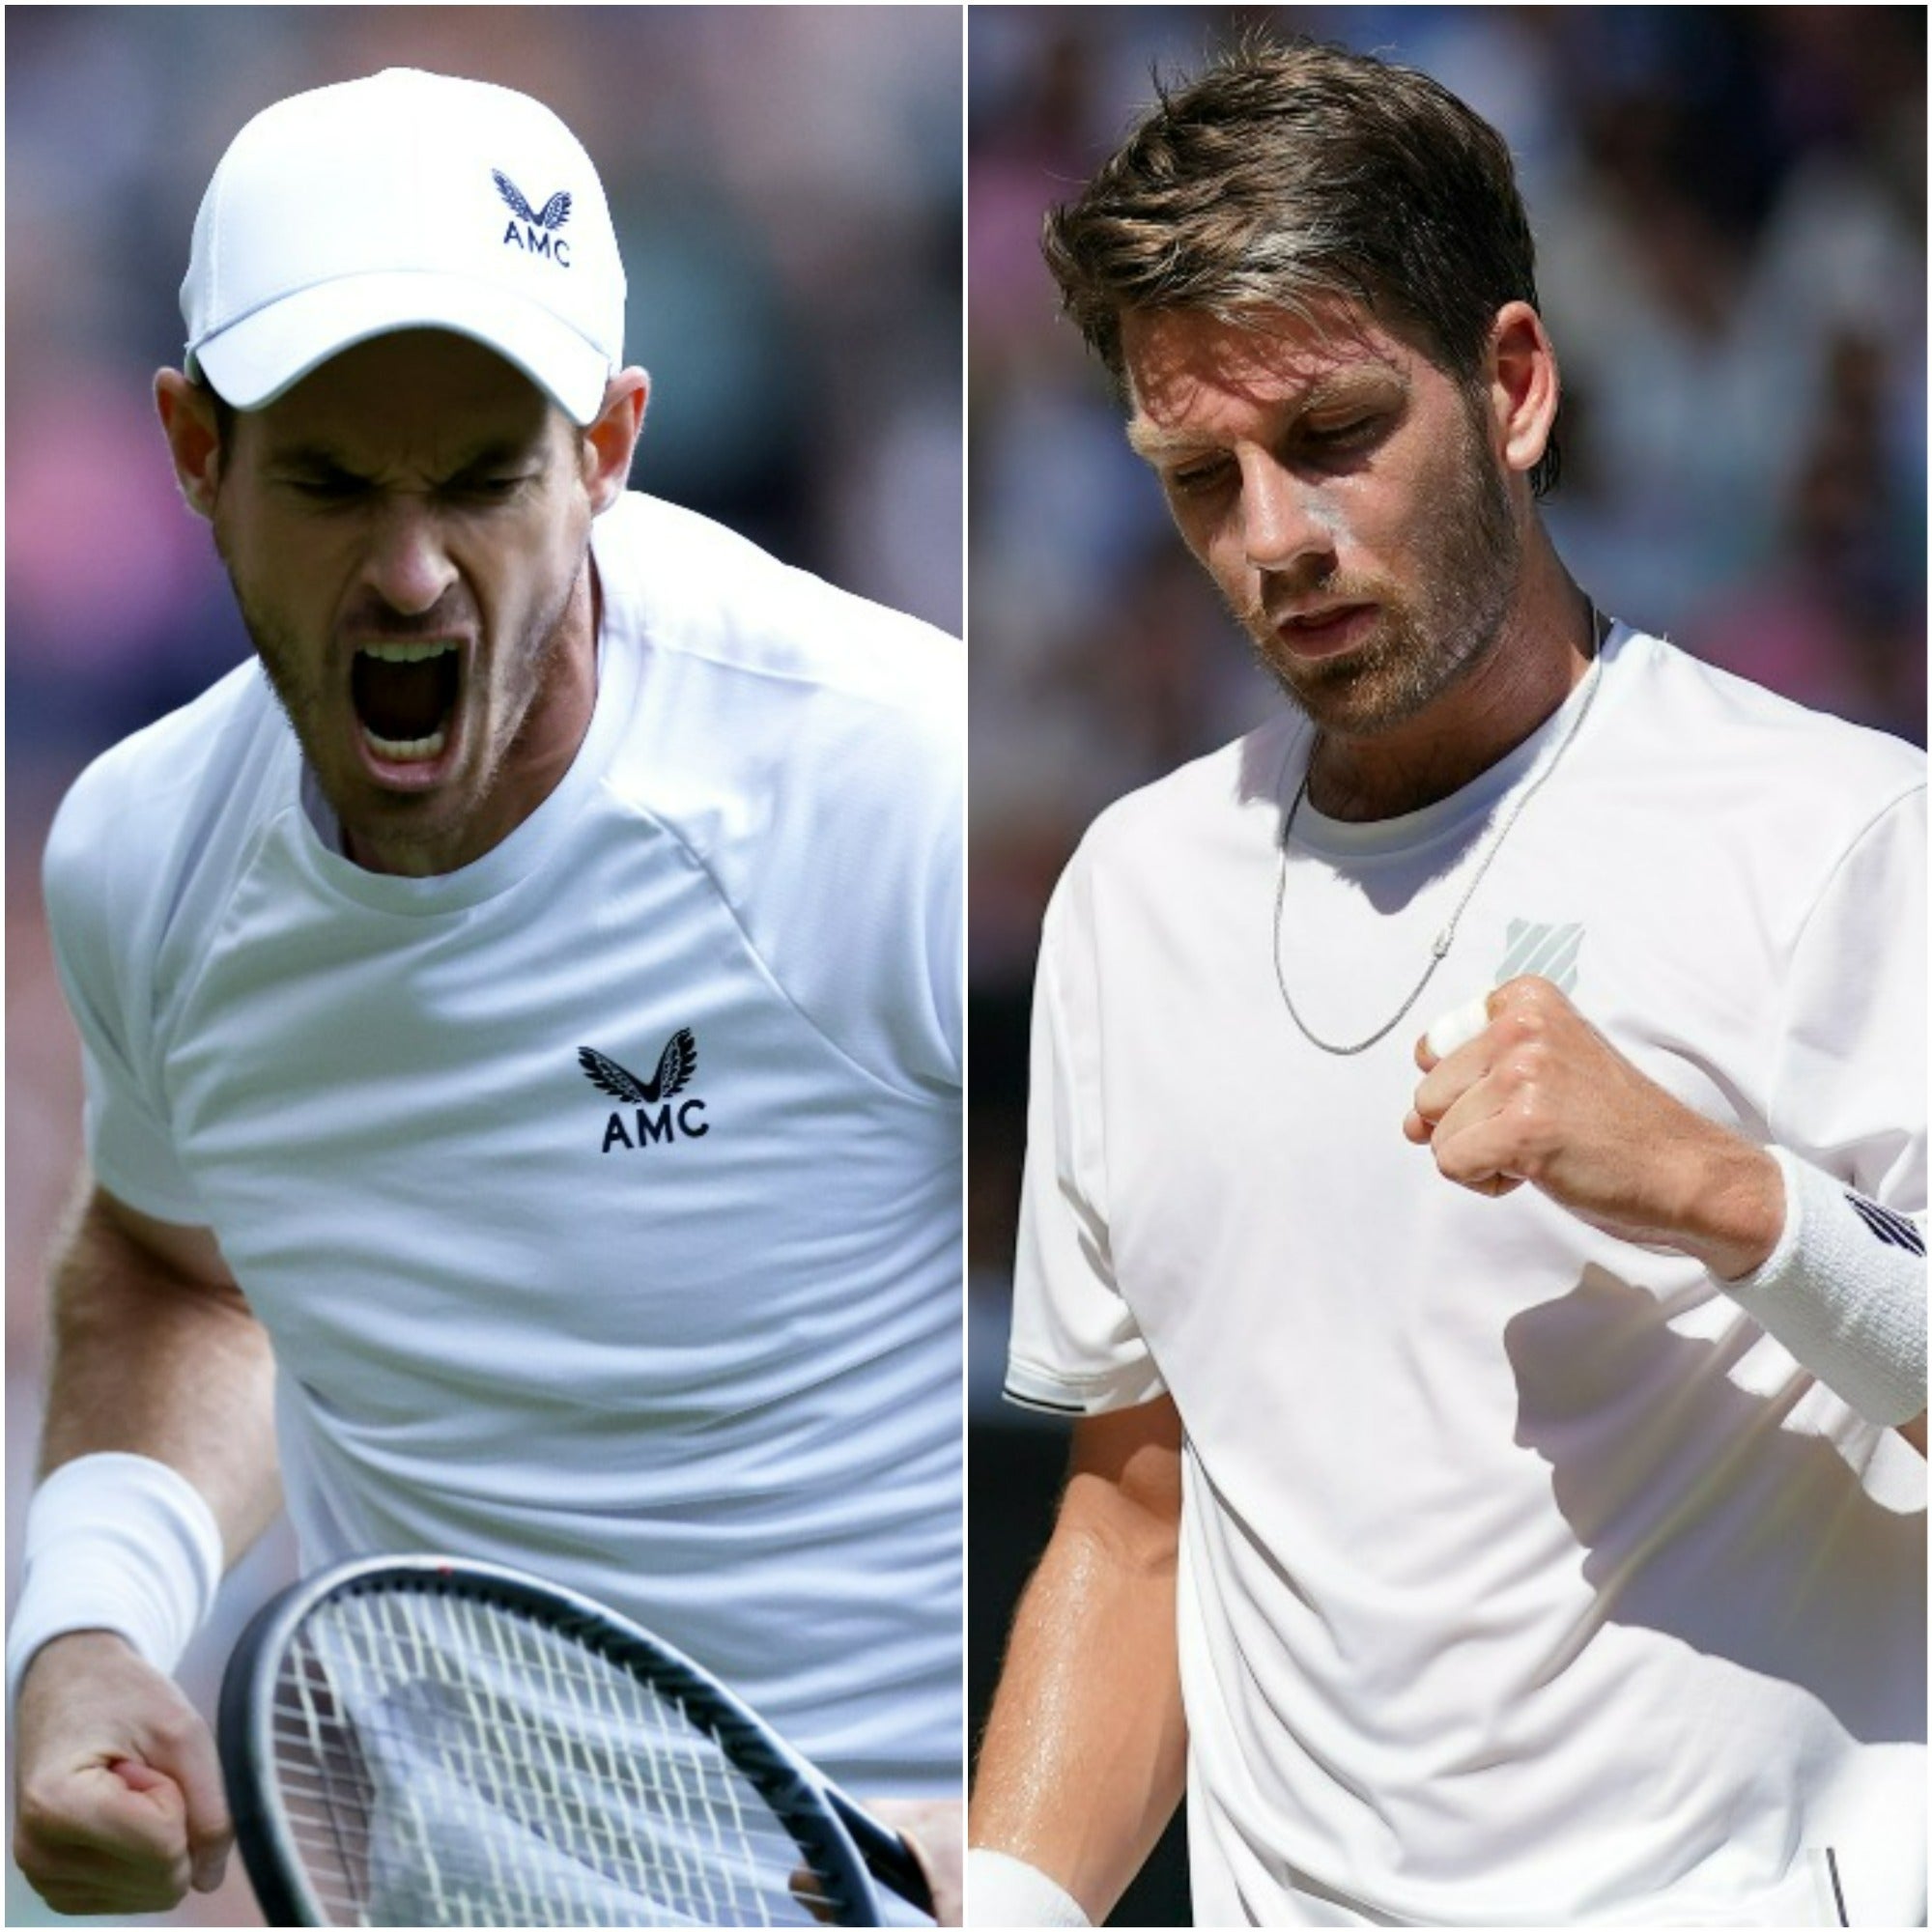
<path id="1" fill-rule="evenodd" d="M 638 667 L 609 794 L 694 856 L 848 1059 L 954 1092 L 960 645 L 647 497 L 599 520 L 597 574 L 607 649 Z"/>

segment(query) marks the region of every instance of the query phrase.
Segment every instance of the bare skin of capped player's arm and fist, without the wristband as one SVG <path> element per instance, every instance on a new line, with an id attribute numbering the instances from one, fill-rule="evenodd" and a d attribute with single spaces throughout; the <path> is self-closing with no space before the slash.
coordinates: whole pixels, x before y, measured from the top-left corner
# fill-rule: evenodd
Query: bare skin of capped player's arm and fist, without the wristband
<path id="1" fill-rule="evenodd" d="M 85 1196 L 54 1269 L 43 1474 L 102 1449 L 166 1463 L 207 1497 L 234 1561 L 276 1509 L 272 1376 L 205 1229 Z M 14 1851 L 50 1905 L 162 1911 L 220 1882 L 214 1741 L 124 1638 L 46 1644 L 21 1679 L 14 1743 Z"/>

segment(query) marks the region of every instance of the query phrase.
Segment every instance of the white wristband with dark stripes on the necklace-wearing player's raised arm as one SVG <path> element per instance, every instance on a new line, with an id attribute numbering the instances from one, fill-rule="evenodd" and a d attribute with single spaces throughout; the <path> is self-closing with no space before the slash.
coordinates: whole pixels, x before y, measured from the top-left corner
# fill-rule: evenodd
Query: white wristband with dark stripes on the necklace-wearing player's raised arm
<path id="1" fill-rule="evenodd" d="M 1924 1219 L 1770 1151 L 1785 1177 L 1785 1231 L 1762 1267 L 1723 1291 L 1868 1422 L 1909 1422 L 1926 1406 Z"/>

